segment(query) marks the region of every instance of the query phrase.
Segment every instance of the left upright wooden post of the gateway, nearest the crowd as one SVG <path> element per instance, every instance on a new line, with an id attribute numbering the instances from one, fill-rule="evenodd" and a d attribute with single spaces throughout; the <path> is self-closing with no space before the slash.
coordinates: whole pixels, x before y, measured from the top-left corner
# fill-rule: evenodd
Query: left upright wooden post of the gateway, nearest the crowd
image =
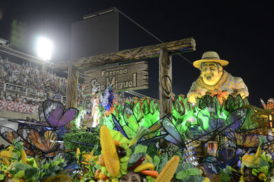
<path id="1" fill-rule="evenodd" d="M 68 70 L 68 87 L 66 89 L 66 109 L 70 107 L 77 108 L 77 84 L 79 72 L 73 67 L 69 66 Z"/>

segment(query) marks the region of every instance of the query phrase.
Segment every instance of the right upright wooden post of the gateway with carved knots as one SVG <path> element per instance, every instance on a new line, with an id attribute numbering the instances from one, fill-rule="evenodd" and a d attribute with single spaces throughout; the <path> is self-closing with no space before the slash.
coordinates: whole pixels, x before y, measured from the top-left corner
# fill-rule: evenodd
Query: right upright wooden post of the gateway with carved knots
<path id="1" fill-rule="evenodd" d="M 162 49 L 159 55 L 160 117 L 172 115 L 172 62 L 171 54 Z"/>

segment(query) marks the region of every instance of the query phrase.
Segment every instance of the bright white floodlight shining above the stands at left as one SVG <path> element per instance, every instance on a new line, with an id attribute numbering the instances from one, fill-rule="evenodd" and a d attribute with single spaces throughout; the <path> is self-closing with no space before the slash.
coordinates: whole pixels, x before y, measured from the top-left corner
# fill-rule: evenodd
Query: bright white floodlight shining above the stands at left
<path id="1" fill-rule="evenodd" d="M 47 38 L 38 38 L 38 45 L 37 45 L 38 57 L 51 60 L 51 52 L 52 52 L 52 43 Z"/>

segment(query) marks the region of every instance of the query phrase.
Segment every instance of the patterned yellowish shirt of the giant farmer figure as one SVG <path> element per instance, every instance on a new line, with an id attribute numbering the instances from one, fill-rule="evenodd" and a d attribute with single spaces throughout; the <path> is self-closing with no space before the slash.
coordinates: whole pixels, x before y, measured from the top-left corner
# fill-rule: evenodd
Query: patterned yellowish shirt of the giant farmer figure
<path id="1" fill-rule="evenodd" d="M 223 76 L 214 86 L 205 84 L 203 82 L 203 78 L 200 76 L 195 82 L 192 83 L 187 97 L 189 97 L 191 93 L 205 95 L 207 92 L 212 93 L 212 91 L 227 91 L 229 94 L 236 93 L 237 91 L 243 91 L 245 95 L 249 95 L 247 85 L 245 85 L 242 78 L 234 77 L 230 73 L 227 73 L 227 71 L 224 71 Z"/>

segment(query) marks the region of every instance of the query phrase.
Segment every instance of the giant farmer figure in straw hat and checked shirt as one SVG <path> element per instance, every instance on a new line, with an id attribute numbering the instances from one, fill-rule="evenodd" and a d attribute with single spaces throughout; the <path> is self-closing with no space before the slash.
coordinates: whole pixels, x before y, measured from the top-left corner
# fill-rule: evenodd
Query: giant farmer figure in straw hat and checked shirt
<path id="1" fill-rule="evenodd" d="M 201 98 L 206 93 L 219 93 L 219 91 L 226 91 L 226 97 L 229 94 L 240 94 L 242 98 L 246 98 L 249 92 L 242 78 L 234 77 L 223 70 L 223 67 L 228 64 L 229 62 L 221 60 L 216 52 L 205 52 L 201 60 L 193 62 L 194 67 L 201 70 L 201 75 L 192 83 L 187 95 L 188 101 L 196 103 L 196 98 Z"/>

